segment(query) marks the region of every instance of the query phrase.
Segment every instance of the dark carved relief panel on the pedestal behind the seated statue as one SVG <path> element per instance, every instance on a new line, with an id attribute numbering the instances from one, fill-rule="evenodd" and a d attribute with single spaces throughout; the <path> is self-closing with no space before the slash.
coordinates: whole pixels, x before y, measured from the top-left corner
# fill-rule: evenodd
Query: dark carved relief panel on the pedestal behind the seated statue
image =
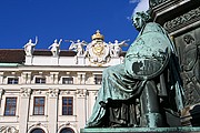
<path id="1" fill-rule="evenodd" d="M 174 38 L 181 78 L 186 93 L 184 105 L 200 102 L 200 28 Z"/>

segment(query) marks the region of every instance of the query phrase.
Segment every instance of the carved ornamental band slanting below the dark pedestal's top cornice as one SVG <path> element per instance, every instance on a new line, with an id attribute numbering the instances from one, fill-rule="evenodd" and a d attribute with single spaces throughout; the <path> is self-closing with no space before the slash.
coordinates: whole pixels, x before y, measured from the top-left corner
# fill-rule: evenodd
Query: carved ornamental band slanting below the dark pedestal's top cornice
<path id="1" fill-rule="evenodd" d="M 192 19 L 196 19 L 198 17 L 200 17 L 200 7 L 197 9 L 193 9 L 193 10 L 191 10 L 191 11 L 189 11 L 189 12 L 187 12 L 180 17 L 177 17 L 173 20 L 166 22 L 163 24 L 163 27 L 164 27 L 164 29 L 170 30 L 170 29 L 173 29 L 180 24 L 183 24 L 183 23 L 186 23 Z"/>

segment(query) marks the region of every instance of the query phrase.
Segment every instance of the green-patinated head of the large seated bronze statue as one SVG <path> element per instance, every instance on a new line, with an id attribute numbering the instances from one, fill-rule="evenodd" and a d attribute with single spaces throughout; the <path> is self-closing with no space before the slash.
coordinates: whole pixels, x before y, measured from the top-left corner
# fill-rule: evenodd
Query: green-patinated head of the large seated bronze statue
<path id="1" fill-rule="evenodd" d="M 146 13 L 144 11 L 142 12 L 137 12 L 132 17 L 132 23 L 136 27 L 137 30 L 141 30 L 141 28 L 150 20 L 150 16 Z"/>

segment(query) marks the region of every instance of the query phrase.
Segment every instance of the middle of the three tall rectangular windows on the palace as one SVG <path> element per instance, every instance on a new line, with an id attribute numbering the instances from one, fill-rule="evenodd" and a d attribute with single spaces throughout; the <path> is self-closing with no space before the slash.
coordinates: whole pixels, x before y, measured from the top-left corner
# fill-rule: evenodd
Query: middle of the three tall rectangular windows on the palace
<path id="1" fill-rule="evenodd" d="M 34 98 L 33 114 L 44 115 L 44 96 Z"/>

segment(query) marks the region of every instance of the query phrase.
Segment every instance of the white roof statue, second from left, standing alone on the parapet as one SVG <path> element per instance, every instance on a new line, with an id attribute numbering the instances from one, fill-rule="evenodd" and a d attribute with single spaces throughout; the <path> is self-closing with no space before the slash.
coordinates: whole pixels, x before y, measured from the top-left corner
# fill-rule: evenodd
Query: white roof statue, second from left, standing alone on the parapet
<path id="1" fill-rule="evenodd" d="M 53 57 L 57 57 L 60 53 L 60 43 L 61 43 L 62 39 L 60 39 L 60 41 L 58 42 L 58 40 L 56 39 L 54 42 L 48 48 L 51 48 L 51 52 Z"/>

